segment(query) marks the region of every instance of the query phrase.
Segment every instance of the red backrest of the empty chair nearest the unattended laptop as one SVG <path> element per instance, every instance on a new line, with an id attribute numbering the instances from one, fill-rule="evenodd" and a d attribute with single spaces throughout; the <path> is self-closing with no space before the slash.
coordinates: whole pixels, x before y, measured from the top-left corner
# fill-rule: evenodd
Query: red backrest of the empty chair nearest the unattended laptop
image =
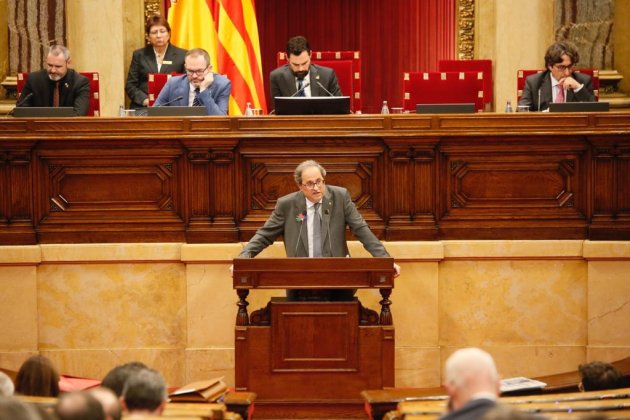
<path id="1" fill-rule="evenodd" d="M 403 79 L 403 107 L 415 112 L 416 104 L 474 103 L 484 110 L 483 72 L 409 72 Z"/>

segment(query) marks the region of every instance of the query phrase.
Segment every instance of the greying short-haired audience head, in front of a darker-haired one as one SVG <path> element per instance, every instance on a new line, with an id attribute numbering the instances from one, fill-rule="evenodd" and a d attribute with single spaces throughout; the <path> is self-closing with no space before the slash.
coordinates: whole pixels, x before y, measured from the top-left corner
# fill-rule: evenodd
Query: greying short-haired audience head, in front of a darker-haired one
<path id="1" fill-rule="evenodd" d="M 142 369 L 127 379 L 121 398 L 126 416 L 160 416 L 166 401 L 164 378 L 158 371 L 149 368 Z"/>

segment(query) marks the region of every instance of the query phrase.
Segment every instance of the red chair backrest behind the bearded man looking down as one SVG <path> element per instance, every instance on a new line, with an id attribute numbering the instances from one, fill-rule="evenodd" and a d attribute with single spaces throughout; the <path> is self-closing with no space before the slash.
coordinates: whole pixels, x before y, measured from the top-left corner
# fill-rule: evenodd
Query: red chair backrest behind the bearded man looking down
<path id="1" fill-rule="evenodd" d="M 287 54 L 278 52 L 278 67 L 287 63 Z M 359 51 L 312 51 L 311 62 L 335 70 L 341 93 L 350 97 L 352 111 L 360 111 L 361 99 L 361 55 Z"/>

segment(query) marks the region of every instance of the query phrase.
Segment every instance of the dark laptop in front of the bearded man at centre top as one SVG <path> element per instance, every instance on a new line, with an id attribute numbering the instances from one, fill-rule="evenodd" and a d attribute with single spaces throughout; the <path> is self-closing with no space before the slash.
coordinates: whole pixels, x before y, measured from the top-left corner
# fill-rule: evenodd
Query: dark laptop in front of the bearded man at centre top
<path id="1" fill-rule="evenodd" d="M 276 115 L 338 115 L 350 113 L 349 96 L 276 96 Z"/>

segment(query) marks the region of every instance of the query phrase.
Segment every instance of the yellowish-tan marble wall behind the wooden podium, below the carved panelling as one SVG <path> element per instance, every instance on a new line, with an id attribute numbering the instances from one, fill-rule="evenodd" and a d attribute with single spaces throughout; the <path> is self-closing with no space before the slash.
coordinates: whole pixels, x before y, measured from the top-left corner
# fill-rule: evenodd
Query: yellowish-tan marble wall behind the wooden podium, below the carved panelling
<path id="1" fill-rule="evenodd" d="M 229 265 L 242 244 L 0 247 L 0 366 L 41 352 L 67 374 L 101 378 L 142 360 L 168 382 L 234 383 L 236 301 Z M 396 386 L 430 387 L 457 348 L 479 346 L 504 376 L 574 370 L 630 356 L 630 242 L 444 241 L 387 244 L 396 280 Z M 367 256 L 352 243 L 355 256 Z M 282 257 L 281 244 L 260 257 Z M 250 310 L 282 291 L 255 291 Z M 361 290 L 378 309 L 380 295 Z"/>

